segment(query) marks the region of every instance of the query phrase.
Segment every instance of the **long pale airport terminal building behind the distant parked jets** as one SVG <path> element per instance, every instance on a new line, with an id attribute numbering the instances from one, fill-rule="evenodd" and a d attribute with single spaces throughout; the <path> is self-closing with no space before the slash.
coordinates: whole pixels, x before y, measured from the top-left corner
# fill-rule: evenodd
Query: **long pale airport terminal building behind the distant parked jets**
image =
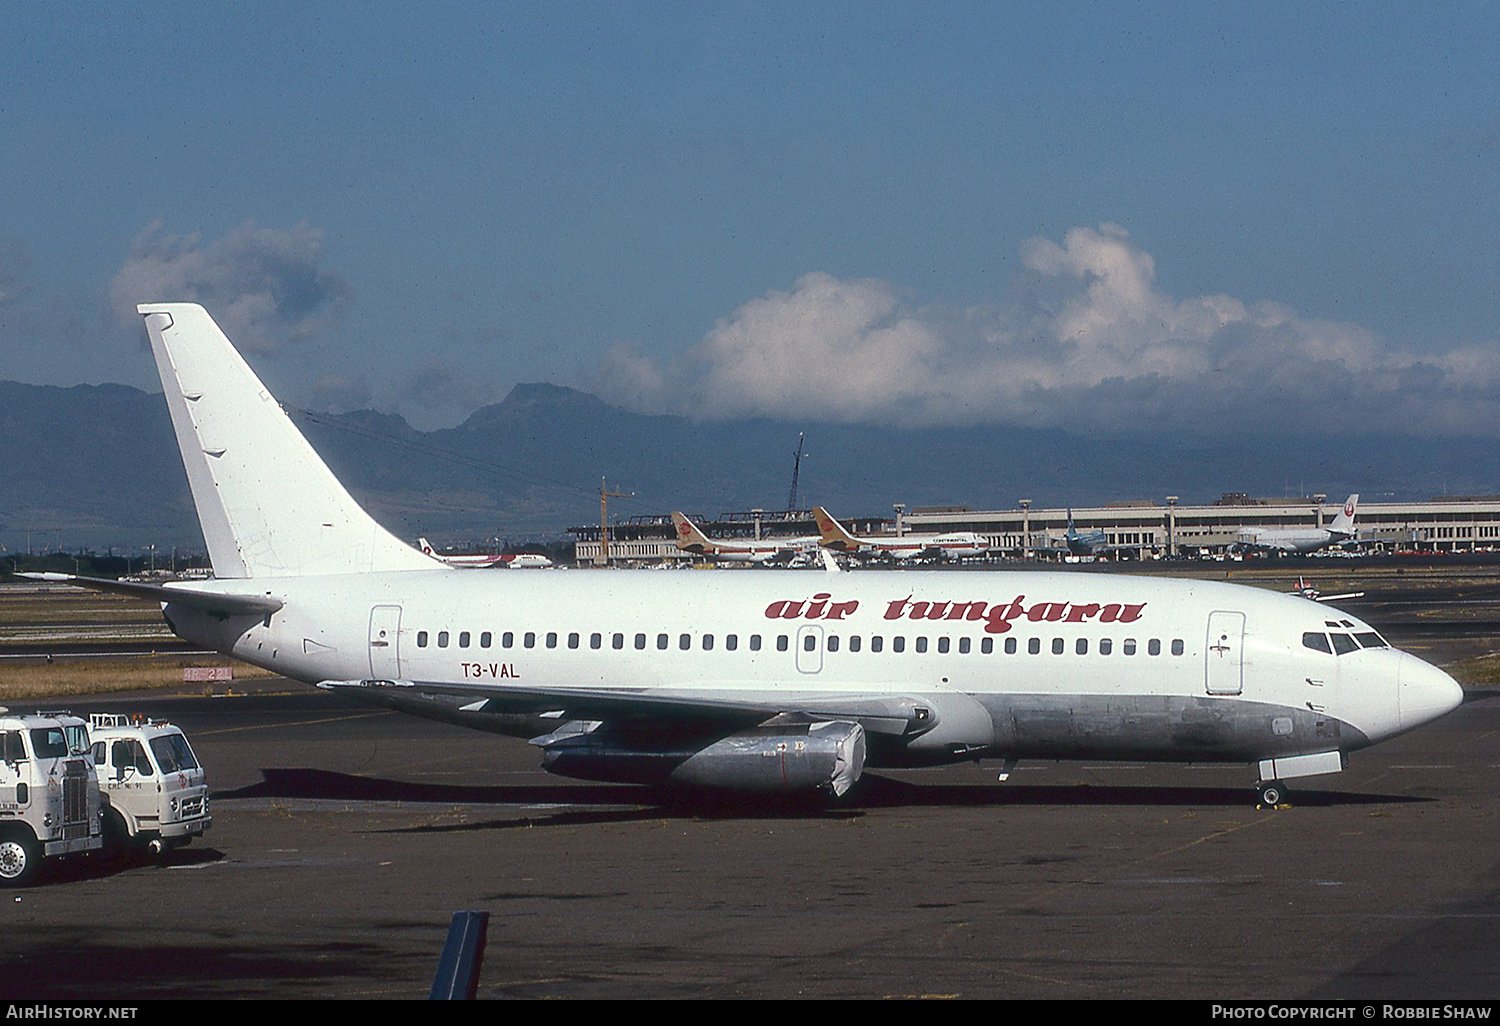
<path id="1" fill-rule="evenodd" d="M 1242 494 L 1224 495 L 1208 506 L 1182 506 L 1176 496 L 1160 501 L 1110 502 L 1102 507 L 1072 510 L 1078 531 L 1104 531 L 1112 546 L 1124 546 L 1125 558 L 1162 558 L 1221 555 L 1236 546 L 1251 530 L 1310 530 L 1326 526 L 1340 512 L 1335 498 L 1257 500 Z M 832 510 L 838 516 L 837 510 Z M 843 518 L 842 518 L 843 519 Z M 750 510 L 694 518 L 714 538 L 776 538 L 816 536 L 818 525 L 808 510 Z M 1068 525 L 1066 508 L 1034 508 L 1017 500 L 1008 510 L 974 510 L 962 506 L 892 506 L 886 516 L 843 519 L 861 536 L 921 536 L 974 531 L 990 540 L 998 558 L 1048 558 L 1064 550 Z M 1354 519 L 1356 542 L 1364 550 L 1470 552 L 1500 548 L 1500 495 L 1442 496 L 1426 502 L 1360 501 Z M 578 544 L 579 562 L 602 561 L 598 525 L 570 528 Z M 628 562 L 687 561 L 693 556 L 676 548 L 668 513 L 638 516 L 609 528 L 609 560 Z"/>

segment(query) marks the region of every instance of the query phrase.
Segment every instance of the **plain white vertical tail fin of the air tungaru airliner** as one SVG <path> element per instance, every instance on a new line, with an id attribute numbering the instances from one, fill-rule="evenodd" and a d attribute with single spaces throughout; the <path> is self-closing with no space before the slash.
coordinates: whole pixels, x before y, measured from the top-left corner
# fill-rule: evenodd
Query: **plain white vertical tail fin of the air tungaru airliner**
<path id="1" fill-rule="evenodd" d="M 360 508 L 207 310 L 136 310 L 216 578 L 442 568 Z"/>

